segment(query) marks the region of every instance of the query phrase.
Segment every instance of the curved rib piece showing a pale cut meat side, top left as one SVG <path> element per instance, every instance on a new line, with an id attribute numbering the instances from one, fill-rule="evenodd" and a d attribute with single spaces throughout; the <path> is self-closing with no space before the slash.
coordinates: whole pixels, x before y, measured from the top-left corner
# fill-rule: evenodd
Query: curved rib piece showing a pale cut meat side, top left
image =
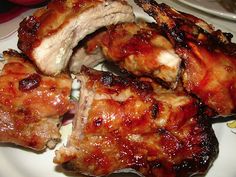
<path id="1" fill-rule="evenodd" d="M 53 0 L 20 23 L 18 47 L 42 72 L 56 75 L 66 69 L 73 48 L 87 34 L 133 20 L 124 0 Z"/>

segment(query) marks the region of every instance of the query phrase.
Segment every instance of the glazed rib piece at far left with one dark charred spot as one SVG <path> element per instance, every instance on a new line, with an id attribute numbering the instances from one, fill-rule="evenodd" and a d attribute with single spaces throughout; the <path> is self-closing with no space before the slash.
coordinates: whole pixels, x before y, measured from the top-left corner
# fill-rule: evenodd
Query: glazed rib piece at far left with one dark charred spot
<path id="1" fill-rule="evenodd" d="M 16 51 L 5 51 L 0 75 L 0 142 L 34 150 L 60 140 L 60 119 L 70 108 L 71 79 L 40 74 Z"/>

